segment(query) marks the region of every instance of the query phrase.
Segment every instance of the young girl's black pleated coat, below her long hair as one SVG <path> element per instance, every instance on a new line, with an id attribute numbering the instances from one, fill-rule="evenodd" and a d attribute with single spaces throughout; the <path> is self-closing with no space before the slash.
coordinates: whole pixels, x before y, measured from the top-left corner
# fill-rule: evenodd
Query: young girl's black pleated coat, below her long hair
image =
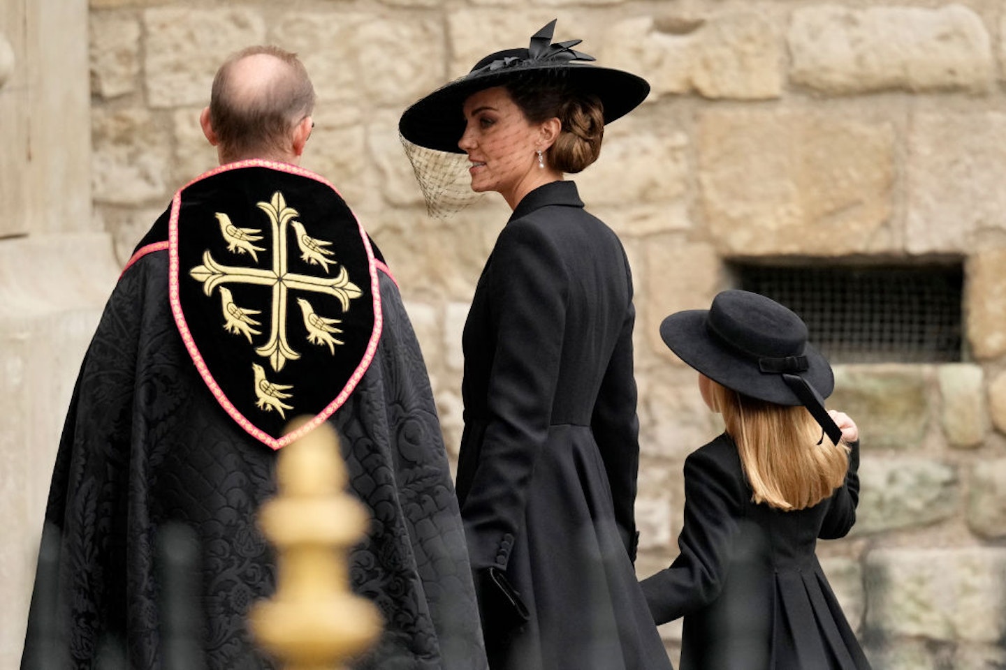
<path id="1" fill-rule="evenodd" d="M 688 456 L 681 553 L 642 583 L 658 624 L 684 617 L 682 670 L 869 668 L 815 554 L 856 520 L 858 467 L 857 442 L 831 497 L 783 511 L 751 501 L 725 433 Z"/>

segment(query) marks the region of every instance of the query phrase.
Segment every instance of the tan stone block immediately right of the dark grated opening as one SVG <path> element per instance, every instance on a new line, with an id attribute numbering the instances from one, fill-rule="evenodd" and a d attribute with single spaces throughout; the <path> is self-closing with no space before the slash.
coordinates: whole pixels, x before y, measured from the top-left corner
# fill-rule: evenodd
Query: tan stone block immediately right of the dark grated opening
<path id="1" fill-rule="evenodd" d="M 980 247 L 965 264 L 964 331 L 979 361 L 1006 354 L 1006 249 Z"/>

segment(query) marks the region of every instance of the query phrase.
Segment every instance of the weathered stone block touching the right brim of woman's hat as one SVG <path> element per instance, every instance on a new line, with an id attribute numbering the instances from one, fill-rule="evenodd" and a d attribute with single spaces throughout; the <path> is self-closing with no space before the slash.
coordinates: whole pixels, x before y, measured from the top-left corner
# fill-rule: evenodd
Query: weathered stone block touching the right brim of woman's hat
<path id="1" fill-rule="evenodd" d="M 709 98 L 768 99 L 782 94 L 779 33 L 764 12 L 699 19 L 638 16 L 611 26 L 601 57 L 607 65 L 645 76 L 652 96 L 696 92 Z"/>

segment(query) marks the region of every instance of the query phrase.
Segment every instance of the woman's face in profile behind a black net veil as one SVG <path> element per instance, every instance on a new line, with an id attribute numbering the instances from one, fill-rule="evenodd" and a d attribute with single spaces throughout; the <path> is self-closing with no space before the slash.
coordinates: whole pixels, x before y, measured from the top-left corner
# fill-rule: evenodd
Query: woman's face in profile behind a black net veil
<path id="1" fill-rule="evenodd" d="M 529 124 L 510 93 L 494 86 L 465 100 L 465 133 L 458 147 L 468 154 L 472 190 L 496 191 L 510 207 L 542 183 L 554 181 L 552 170 L 538 167 L 542 127 Z"/>

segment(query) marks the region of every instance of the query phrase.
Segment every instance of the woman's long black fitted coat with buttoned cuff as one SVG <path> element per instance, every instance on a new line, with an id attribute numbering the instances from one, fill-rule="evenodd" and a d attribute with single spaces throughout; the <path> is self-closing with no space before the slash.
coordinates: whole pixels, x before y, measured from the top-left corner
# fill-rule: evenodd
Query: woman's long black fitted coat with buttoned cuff
<path id="1" fill-rule="evenodd" d="M 633 569 L 634 321 L 622 244 L 575 185 L 525 196 L 464 333 L 457 490 L 494 669 L 670 667 Z M 523 626 L 490 568 L 526 605 Z"/>

